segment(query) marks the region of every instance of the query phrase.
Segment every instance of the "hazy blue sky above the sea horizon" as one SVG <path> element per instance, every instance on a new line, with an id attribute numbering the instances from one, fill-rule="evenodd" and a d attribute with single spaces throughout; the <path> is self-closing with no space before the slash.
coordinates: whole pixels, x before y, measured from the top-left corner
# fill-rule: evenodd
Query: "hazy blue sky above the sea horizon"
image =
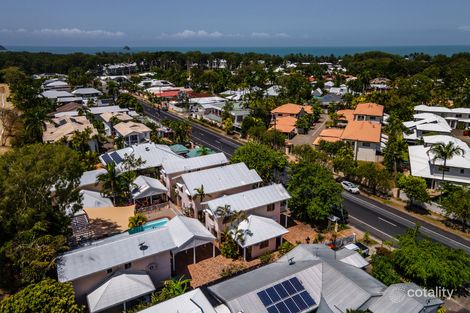
<path id="1" fill-rule="evenodd" d="M 2 0 L 0 44 L 469 45 L 468 0 Z"/>

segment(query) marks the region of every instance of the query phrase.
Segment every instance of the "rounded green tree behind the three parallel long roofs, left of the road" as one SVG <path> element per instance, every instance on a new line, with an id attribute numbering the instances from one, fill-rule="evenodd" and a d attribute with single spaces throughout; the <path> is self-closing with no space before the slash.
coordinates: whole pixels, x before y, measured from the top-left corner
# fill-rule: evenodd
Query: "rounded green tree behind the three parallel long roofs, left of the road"
<path id="1" fill-rule="evenodd" d="M 287 167 L 287 156 L 266 145 L 249 142 L 235 151 L 231 162 L 244 162 L 248 168 L 256 170 L 265 182 L 278 182 Z"/>

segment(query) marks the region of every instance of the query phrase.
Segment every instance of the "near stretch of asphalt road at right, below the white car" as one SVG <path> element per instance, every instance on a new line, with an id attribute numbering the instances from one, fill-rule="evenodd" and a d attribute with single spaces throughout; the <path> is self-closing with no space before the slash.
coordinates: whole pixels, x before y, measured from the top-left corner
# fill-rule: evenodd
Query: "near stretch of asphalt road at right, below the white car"
<path id="1" fill-rule="evenodd" d="M 377 238 L 396 240 L 397 235 L 403 234 L 407 229 L 419 223 L 422 234 L 449 247 L 463 249 L 470 254 L 470 241 L 457 235 L 364 196 L 347 192 L 343 192 L 342 196 L 344 207 L 349 212 L 349 223 Z"/>

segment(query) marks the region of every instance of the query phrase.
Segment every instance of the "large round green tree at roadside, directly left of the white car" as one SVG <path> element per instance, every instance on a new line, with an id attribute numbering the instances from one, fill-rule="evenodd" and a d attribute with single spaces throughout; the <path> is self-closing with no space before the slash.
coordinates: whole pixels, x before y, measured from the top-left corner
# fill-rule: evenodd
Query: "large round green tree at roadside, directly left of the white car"
<path id="1" fill-rule="evenodd" d="M 291 164 L 288 191 L 292 214 L 312 225 L 325 222 L 342 203 L 341 186 L 327 168 L 315 163 Z"/>

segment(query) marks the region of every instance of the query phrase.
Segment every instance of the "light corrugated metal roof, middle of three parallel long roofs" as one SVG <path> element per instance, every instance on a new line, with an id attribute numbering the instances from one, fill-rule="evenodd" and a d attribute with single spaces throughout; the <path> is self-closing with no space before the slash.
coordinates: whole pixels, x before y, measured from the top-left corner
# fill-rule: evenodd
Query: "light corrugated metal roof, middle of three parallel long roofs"
<path id="1" fill-rule="evenodd" d="M 206 194 L 211 194 L 262 182 L 258 173 L 248 169 L 245 163 L 187 173 L 181 175 L 181 179 L 192 196 L 196 194 L 194 189 L 201 186 Z"/>

